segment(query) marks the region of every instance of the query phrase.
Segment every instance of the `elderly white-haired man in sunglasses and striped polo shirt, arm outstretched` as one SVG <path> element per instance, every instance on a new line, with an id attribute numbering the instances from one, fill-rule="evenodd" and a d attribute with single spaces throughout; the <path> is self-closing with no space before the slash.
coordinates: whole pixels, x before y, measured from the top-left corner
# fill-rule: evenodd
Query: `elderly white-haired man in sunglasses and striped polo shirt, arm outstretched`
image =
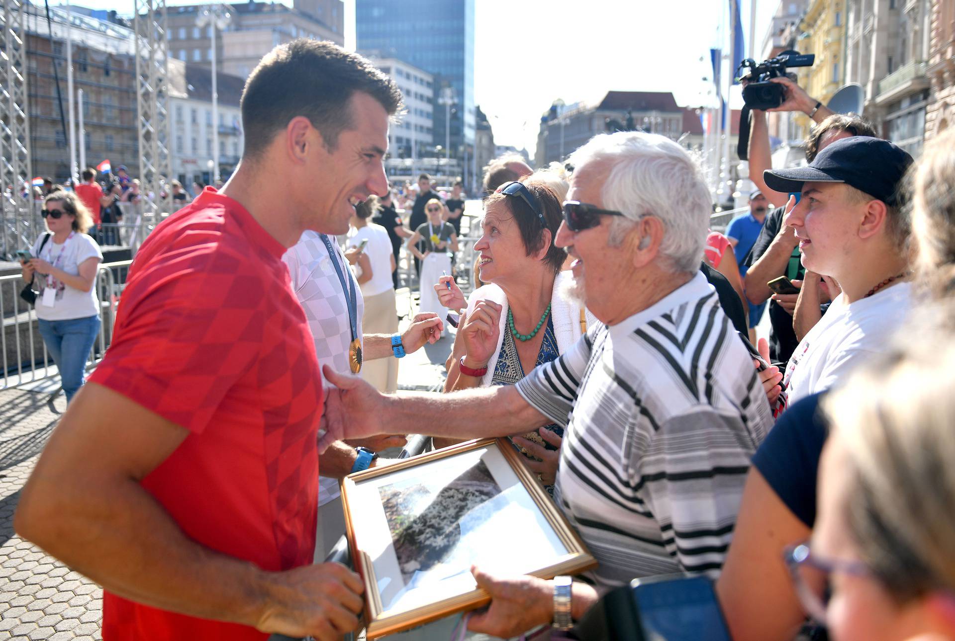
<path id="1" fill-rule="evenodd" d="M 699 272 L 711 197 L 690 156 L 661 135 L 618 133 L 594 137 L 569 162 L 557 244 L 574 258 L 572 294 L 602 324 L 515 385 L 393 397 L 329 374 L 346 418 L 329 419 L 326 438 L 565 425 L 554 499 L 600 563 L 589 576 L 596 589 L 573 584 L 576 619 L 599 591 L 634 577 L 718 573 L 750 458 L 773 419 Z M 481 311 L 497 326 L 499 306 Z M 563 581 L 475 577 L 493 601 L 472 630 L 511 636 L 569 623 L 553 607 Z"/>

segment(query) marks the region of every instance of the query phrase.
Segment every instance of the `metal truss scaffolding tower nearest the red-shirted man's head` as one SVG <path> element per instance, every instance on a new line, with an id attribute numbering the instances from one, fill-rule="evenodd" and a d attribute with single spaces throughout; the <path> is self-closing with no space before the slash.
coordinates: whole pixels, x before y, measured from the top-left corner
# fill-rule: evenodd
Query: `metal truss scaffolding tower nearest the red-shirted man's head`
<path id="1" fill-rule="evenodd" d="M 139 182 L 144 195 L 155 195 L 143 198 L 146 213 L 159 214 L 172 202 L 171 195 L 160 197 L 169 191 L 166 183 L 171 179 L 166 1 L 136 0 L 135 9 Z"/>

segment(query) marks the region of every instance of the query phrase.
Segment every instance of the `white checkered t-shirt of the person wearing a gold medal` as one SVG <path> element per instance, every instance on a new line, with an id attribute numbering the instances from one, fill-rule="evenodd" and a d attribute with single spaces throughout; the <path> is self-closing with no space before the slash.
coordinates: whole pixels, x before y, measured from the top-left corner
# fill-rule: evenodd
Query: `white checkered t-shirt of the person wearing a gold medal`
<path id="1" fill-rule="evenodd" d="M 351 278 L 349 263 L 342 256 L 338 239 L 333 236 L 329 239 L 335 250 L 334 258 L 329 257 L 329 250 L 318 233 L 308 231 L 299 238 L 298 243 L 289 248 L 282 259 L 288 267 L 292 290 L 305 311 L 308 327 L 315 341 L 315 356 L 318 357 L 318 364 L 329 364 L 336 372 L 350 373 L 351 328 L 348 299 L 331 260 L 334 259 L 338 266 L 344 269 L 342 276 L 345 277 L 349 287 L 354 286 L 357 281 Z M 391 277 L 389 277 L 389 283 L 391 283 Z M 365 301 L 362 299 L 360 289 L 355 292 L 355 303 L 358 313 L 356 319 L 358 340 L 361 341 L 361 319 L 365 313 Z M 322 385 L 329 387 L 325 374 L 322 375 Z M 318 505 L 324 506 L 337 498 L 339 494 L 338 480 L 321 476 L 321 469 L 319 469 Z"/>

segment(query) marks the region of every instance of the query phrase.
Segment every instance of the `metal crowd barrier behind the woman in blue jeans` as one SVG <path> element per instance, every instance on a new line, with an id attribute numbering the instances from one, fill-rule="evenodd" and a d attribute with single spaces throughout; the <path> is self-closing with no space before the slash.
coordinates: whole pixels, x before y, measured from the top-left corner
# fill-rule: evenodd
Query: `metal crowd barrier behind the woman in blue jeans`
<path id="1" fill-rule="evenodd" d="M 99 300 L 101 326 L 86 362 L 87 369 L 103 358 L 113 338 L 117 305 L 132 262 L 104 263 L 96 272 L 94 287 Z M 3 366 L 0 389 L 52 379 L 58 374 L 40 336 L 36 310 L 20 298 L 20 291 L 26 284 L 19 274 L 0 277 L 0 358 Z"/>

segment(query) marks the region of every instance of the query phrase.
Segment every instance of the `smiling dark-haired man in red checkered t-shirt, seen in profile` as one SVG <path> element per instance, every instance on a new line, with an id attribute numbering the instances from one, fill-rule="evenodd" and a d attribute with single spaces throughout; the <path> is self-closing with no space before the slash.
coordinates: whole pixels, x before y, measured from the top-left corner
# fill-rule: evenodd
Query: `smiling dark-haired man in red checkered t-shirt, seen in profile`
<path id="1" fill-rule="evenodd" d="M 323 407 L 280 259 L 384 194 L 397 88 L 295 40 L 242 98 L 242 162 L 142 244 L 113 344 L 55 429 L 14 526 L 103 586 L 103 638 L 338 638 L 362 584 L 309 566 Z"/>

